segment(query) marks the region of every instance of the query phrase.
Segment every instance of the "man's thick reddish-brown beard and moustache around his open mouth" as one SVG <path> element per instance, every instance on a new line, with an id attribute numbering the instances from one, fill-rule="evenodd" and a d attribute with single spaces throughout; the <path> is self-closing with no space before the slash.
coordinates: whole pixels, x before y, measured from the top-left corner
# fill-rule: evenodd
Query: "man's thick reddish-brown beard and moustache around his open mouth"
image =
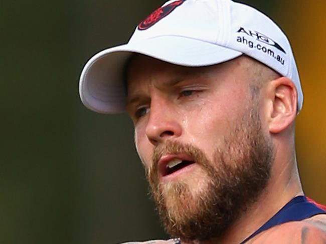
<path id="1" fill-rule="evenodd" d="M 212 161 L 199 148 L 176 141 L 154 150 L 147 178 L 160 218 L 172 237 L 193 241 L 221 236 L 265 188 L 274 160 L 272 142 L 264 136 L 255 110 L 247 110 L 237 122 Z M 157 161 L 163 154 L 178 153 L 191 156 L 196 170 L 178 181 L 163 183 Z"/>

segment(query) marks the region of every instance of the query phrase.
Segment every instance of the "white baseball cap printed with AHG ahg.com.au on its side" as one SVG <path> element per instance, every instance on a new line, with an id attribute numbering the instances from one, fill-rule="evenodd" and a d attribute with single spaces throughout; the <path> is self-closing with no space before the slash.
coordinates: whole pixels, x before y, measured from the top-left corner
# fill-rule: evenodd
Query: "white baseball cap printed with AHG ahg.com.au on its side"
<path id="1" fill-rule="evenodd" d="M 124 67 L 139 53 L 181 66 L 209 66 L 243 54 L 293 81 L 303 94 L 290 43 L 254 8 L 231 0 L 172 0 L 135 29 L 127 44 L 105 49 L 85 65 L 79 84 L 83 104 L 109 114 L 125 110 Z"/>

